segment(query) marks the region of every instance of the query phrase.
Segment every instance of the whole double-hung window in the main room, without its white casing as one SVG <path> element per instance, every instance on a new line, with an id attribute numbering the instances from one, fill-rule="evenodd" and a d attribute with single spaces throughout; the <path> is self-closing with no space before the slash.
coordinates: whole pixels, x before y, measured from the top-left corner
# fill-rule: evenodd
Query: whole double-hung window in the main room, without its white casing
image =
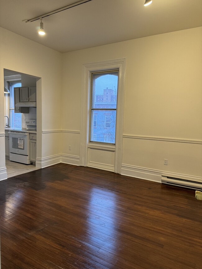
<path id="1" fill-rule="evenodd" d="M 90 142 L 115 144 L 118 70 L 91 77 Z"/>

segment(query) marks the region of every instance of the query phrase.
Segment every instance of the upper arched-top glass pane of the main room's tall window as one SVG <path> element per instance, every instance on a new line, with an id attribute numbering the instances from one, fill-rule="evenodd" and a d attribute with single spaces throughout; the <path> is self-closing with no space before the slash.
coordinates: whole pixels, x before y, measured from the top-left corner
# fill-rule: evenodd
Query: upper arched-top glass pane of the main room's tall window
<path id="1" fill-rule="evenodd" d="M 117 107 L 118 71 L 93 74 L 92 108 Z"/>

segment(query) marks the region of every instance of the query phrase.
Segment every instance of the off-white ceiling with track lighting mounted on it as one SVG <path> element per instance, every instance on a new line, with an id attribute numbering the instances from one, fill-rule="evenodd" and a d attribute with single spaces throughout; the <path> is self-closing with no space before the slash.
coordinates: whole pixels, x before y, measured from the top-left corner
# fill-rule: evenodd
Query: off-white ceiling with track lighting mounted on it
<path id="1" fill-rule="evenodd" d="M 202 0 L 91 0 L 25 23 L 79 0 L 0 0 L 0 26 L 59 52 L 202 26 Z"/>

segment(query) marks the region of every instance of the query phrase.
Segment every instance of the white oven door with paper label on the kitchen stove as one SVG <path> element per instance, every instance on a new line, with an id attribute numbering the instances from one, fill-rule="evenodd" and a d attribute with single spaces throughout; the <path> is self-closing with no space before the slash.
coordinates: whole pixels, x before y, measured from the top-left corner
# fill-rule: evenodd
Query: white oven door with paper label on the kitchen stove
<path id="1" fill-rule="evenodd" d="M 10 153 L 28 155 L 28 133 L 8 132 Z"/>

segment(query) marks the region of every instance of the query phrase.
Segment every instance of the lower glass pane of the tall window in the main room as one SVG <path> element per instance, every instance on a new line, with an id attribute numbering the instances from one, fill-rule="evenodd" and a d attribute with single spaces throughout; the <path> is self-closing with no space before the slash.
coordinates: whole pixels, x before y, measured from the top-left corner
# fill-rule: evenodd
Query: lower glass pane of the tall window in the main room
<path id="1" fill-rule="evenodd" d="M 115 144 L 116 110 L 92 110 L 91 122 L 91 141 Z"/>

